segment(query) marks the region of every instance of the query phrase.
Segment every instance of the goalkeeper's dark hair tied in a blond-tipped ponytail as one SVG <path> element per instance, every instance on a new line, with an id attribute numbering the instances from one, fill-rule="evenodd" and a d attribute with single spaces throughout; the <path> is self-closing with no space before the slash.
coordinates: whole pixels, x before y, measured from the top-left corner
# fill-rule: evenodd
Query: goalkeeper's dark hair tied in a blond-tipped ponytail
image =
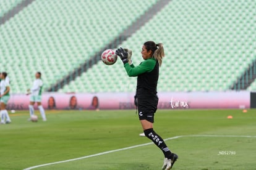
<path id="1" fill-rule="evenodd" d="M 152 56 L 158 60 L 159 65 L 162 65 L 162 60 L 164 57 L 164 49 L 163 44 L 158 43 L 156 44 L 154 41 L 147 41 L 143 44 L 147 51 L 152 51 Z"/>

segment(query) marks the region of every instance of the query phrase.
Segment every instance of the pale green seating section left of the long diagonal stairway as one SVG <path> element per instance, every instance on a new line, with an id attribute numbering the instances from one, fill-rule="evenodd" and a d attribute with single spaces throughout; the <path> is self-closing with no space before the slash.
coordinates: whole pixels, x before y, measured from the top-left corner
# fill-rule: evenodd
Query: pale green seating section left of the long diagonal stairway
<path id="1" fill-rule="evenodd" d="M 56 83 L 118 36 L 155 2 L 32 2 L 0 26 L 0 55 L 4 56 L 1 70 L 7 71 L 11 82 L 15 82 L 12 92 L 25 92 L 36 71 L 41 71 L 45 88 Z M 119 7 L 122 12 L 116 10 Z"/>

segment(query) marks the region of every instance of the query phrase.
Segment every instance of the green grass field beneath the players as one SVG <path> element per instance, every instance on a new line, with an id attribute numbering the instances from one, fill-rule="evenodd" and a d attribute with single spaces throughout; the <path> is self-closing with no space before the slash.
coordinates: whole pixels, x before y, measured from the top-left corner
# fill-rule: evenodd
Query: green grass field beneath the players
<path id="1" fill-rule="evenodd" d="M 46 111 L 28 122 L 16 111 L 0 125 L 0 169 L 24 169 L 147 144 L 135 110 Z M 36 112 L 37 115 L 38 112 Z M 233 119 L 227 119 L 232 115 Z M 158 110 L 155 131 L 179 155 L 173 169 L 256 169 L 256 110 Z M 192 136 L 196 135 L 196 136 Z M 202 136 L 216 135 L 216 136 Z M 247 137 L 244 137 L 247 136 Z M 153 144 L 35 169 L 161 169 Z"/>

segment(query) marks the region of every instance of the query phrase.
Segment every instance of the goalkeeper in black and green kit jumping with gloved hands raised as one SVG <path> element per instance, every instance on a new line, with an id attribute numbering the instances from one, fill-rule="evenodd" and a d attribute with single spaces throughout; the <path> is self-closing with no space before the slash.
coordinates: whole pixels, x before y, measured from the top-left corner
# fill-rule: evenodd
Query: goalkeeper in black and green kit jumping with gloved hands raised
<path id="1" fill-rule="evenodd" d="M 119 48 L 116 54 L 124 63 L 124 68 L 129 76 L 137 76 L 137 105 L 139 119 L 142 124 L 145 136 L 152 140 L 164 154 L 164 164 L 162 169 L 171 169 L 178 156 L 172 153 L 166 146 L 164 140 L 153 130 L 154 115 L 158 105 L 157 83 L 159 67 L 164 57 L 163 44 L 155 44 L 147 41 L 142 46 L 142 58 L 144 61 L 137 67 L 132 64 L 132 51 Z M 136 100 L 136 99 L 135 99 Z"/>

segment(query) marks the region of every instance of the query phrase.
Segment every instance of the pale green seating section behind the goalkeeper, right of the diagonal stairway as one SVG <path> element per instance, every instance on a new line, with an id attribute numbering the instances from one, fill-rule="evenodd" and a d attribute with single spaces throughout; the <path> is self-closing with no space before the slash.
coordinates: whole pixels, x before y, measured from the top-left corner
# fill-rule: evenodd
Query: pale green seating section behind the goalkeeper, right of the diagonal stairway
<path id="1" fill-rule="evenodd" d="M 171 1 L 120 46 L 139 64 L 144 41 L 163 42 L 158 91 L 226 91 L 256 59 L 254 11 L 254 1 Z M 120 61 L 99 62 L 59 92 L 126 92 L 134 84 Z"/>

